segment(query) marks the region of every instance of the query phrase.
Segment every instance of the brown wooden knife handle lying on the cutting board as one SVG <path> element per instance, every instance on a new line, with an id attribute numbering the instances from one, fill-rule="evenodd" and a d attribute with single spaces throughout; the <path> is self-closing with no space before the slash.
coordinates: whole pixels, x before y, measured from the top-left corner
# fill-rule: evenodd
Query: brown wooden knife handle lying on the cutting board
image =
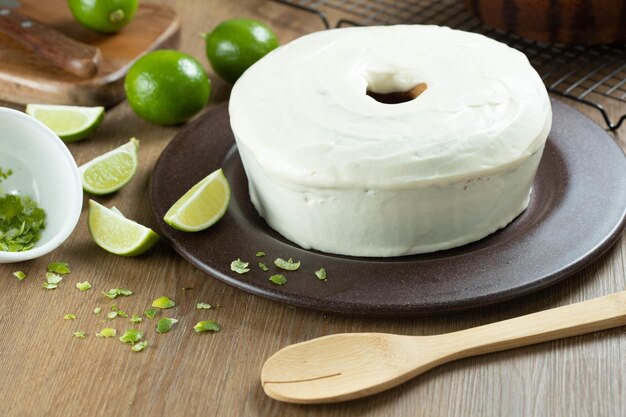
<path id="1" fill-rule="evenodd" d="M 0 8 L 0 33 L 77 77 L 91 78 L 98 72 L 102 58 L 98 48 L 78 42 L 13 9 Z"/>

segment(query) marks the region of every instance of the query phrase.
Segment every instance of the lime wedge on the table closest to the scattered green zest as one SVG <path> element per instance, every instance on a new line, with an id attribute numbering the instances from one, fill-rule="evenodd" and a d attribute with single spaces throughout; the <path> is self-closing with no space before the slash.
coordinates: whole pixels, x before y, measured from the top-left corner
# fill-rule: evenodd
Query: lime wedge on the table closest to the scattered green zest
<path id="1" fill-rule="evenodd" d="M 102 249 L 123 256 L 141 255 L 159 240 L 152 229 L 89 200 L 89 233 Z"/>

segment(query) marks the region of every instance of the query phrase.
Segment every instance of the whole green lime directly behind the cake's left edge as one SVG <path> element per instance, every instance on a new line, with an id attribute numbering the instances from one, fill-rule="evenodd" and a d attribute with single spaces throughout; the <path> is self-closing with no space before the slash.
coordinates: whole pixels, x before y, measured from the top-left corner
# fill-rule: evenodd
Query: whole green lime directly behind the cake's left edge
<path id="1" fill-rule="evenodd" d="M 252 64 L 278 47 L 276 34 L 253 19 L 230 19 L 205 36 L 206 55 L 215 72 L 234 83 Z"/>

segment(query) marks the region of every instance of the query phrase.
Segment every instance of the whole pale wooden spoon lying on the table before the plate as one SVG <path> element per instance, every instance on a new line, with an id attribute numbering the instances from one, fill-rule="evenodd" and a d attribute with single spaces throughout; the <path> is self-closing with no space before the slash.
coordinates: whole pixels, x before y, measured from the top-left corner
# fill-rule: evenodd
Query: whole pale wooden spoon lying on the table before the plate
<path id="1" fill-rule="evenodd" d="M 626 291 L 435 336 L 336 334 L 287 346 L 270 357 L 261 382 L 270 397 L 315 404 L 384 391 L 437 365 L 626 325 Z"/>

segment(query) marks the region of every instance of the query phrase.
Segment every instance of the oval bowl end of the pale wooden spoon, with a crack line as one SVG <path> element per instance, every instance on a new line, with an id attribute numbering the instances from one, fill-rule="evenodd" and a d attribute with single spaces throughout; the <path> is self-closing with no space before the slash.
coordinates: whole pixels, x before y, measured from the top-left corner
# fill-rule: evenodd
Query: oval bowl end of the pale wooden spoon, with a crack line
<path id="1" fill-rule="evenodd" d="M 399 385 L 438 365 L 437 336 L 344 333 L 286 347 L 267 360 L 263 389 L 287 402 L 345 401 Z"/>

